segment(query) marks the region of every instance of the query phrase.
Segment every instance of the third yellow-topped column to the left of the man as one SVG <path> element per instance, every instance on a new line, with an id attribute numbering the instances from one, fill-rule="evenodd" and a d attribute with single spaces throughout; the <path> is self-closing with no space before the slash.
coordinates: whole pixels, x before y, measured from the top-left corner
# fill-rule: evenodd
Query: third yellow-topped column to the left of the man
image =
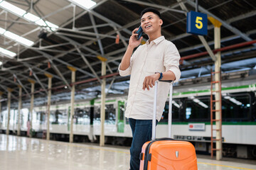
<path id="1" fill-rule="evenodd" d="M 47 101 L 47 133 L 46 140 L 50 140 L 50 98 L 51 98 L 51 80 L 53 76 L 51 74 L 45 73 L 46 77 L 48 77 L 48 101 Z"/>

